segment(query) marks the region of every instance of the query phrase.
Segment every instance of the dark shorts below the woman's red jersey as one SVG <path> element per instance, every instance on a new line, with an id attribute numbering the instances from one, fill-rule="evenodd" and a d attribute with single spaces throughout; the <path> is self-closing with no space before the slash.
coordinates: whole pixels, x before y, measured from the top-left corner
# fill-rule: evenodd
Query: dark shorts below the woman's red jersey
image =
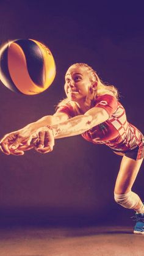
<path id="1" fill-rule="evenodd" d="M 117 151 L 115 150 L 113 150 L 113 152 L 117 153 Z M 139 146 L 132 150 L 127 150 L 126 152 L 123 152 L 123 155 L 134 160 L 142 159 L 144 157 L 144 137 L 142 137 L 142 143 Z"/>

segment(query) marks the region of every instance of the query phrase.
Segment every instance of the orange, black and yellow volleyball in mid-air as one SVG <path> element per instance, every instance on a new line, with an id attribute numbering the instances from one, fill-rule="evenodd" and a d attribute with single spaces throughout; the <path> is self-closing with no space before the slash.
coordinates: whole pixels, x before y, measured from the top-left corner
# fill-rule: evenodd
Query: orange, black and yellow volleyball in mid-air
<path id="1" fill-rule="evenodd" d="M 56 64 L 50 49 L 33 39 L 18 39 L 0 49 L 0 79 L 13 92 L 34 95 L 51 86 Z"/>

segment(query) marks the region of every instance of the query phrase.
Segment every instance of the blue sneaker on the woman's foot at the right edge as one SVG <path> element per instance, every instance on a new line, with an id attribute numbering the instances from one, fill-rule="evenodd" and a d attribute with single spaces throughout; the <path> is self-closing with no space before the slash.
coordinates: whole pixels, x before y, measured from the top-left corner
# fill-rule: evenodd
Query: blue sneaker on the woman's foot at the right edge
<path id="1" fill-rule="evenodd" d="M 136 221 L 134 234 L 144 235 L 144 213 L 135 213 L 133 219 Z"/>

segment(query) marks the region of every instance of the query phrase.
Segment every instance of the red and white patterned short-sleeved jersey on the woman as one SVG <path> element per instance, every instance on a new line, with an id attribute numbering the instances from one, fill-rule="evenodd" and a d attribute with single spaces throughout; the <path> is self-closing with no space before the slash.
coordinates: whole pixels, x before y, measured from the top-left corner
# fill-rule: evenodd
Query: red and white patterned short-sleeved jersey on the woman
<path id="1" fill-rule="evenodd" d="M 108 94 L 98 96 L 95 108 L 105 109 L 109 119 L 85 131 L 82 134 L 84 139 L 94 144 L 106 144 L 112 150 L 121 153 L 142 145 L 142 133 L 128 122 L 123 106 L 115 97 Z M 60 106 L 57 112 L 64 112 L 69 118 L 78 115 L 70 102 Z"/>

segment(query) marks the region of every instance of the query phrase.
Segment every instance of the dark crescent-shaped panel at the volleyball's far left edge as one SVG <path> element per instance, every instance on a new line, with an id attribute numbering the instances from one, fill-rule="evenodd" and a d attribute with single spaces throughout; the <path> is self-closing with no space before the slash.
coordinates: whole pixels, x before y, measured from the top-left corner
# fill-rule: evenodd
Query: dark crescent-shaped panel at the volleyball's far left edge
<path id="1" fill-rule="evenodd" d="M 20 90 L 17 89 L 14 82 L 12 81 L 12 78 L 10 77 L 9 68 L 8 68 L 8 60 L 7 60 L 8 49 L 9 49 L 9 46 L 7 46 L 4 49 L 4 51 L 1 53 L 1 56 L 0 56 L 0 72 L 1 72 L 2 76 L 4 77 L 5 81 L 7 82 L 7 84 L 4 84 L 4 85 L 7 88 L 9 88 L 10 90 L 12 90 L 13 92 L 18 92 L 18 93 L 23 94 L 22 92 L 20 92 Z"/>

